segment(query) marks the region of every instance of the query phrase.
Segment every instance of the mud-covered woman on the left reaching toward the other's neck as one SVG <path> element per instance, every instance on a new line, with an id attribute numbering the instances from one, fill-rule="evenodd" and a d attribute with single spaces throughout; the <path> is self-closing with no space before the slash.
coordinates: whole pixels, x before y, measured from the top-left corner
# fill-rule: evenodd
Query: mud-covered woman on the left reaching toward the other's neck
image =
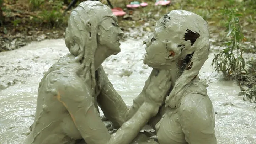
<path id="1" fill-rule="evenodd" d="M 80 139 L 87 144 L 129 144 L 159 106 L 145 101 L 126 122 L 128 109 L 101 66 L 107 57 L 120 52 L 123 32 L 116 16 L 101 2 L 82 2 L 71 12 L 65 34 L 70 53 L 42 78 L 31 133 L 23 144 L 74 144 Z M 165 70 L 154 73 L 143 93 L 152 96 L 149 100 L 162 101 L 170 76 Z M 100 119 L 98 105 L 120 127 L 112 135 Z"/>

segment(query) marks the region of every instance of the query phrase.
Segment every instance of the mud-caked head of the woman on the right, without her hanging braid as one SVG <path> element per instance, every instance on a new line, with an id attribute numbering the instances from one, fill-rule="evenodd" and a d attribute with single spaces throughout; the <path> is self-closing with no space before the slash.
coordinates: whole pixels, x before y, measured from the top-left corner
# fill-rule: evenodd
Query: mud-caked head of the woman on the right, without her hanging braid
<path id="1" fill-rule="evenodd" d="M 184 65 L 181 60 L 204 42 L 197 40 L 201 34 L 208 37 L 207 23 L 201 16 L 185 10 L 172 10 L 158 20 L 154 33 L 144 41 L 147 45 L 144 64 L 159 69 Z"/>

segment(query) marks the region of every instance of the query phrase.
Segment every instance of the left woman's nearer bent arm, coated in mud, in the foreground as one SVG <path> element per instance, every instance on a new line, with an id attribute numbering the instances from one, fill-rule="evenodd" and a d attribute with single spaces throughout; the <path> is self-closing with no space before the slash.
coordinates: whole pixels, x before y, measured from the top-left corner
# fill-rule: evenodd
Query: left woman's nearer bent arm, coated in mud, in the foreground
<path id="1" fill-rule="evenodd" d="M 56 98 L 66 107 L 87 144 L 129 144 L 158 111 L 157 106 L 144 102 L 129 121 L 110 135 L 100 119 L 87 86 L 79 82 L 74 82 L 73 86 L 63 84 L 59 83 Z"/>

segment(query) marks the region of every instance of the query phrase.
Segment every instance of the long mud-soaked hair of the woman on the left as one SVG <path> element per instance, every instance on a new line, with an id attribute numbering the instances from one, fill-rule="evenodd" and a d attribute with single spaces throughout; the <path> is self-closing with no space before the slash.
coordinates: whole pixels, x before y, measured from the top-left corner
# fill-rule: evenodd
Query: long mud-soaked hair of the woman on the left
<path id="1" fill-rule="evenodd" d="M 94 55 L 98 46 L 98 26 L 106 17 L 116 21 L 111 9 L 101 2 L 81 2 L 71 12 L 65 33 L 66 47 L 81 63 L 82 70 L 78 75 L 91 87 L 92 92 L 96 86 Z"/>

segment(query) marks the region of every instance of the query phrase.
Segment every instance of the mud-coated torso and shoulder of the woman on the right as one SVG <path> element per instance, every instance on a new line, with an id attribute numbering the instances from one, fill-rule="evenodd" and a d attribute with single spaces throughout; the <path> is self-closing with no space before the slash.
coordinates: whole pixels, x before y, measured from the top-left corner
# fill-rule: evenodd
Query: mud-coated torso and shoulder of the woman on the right
<path id="1" fill-rule="evenodd" d="M 192 81 L 178 108 L 162 106 L 158 115 L 149 121 L 156 129 L 160 144 L 217 144 L 215 116 L 207 86 L 199 80 Z"/>

